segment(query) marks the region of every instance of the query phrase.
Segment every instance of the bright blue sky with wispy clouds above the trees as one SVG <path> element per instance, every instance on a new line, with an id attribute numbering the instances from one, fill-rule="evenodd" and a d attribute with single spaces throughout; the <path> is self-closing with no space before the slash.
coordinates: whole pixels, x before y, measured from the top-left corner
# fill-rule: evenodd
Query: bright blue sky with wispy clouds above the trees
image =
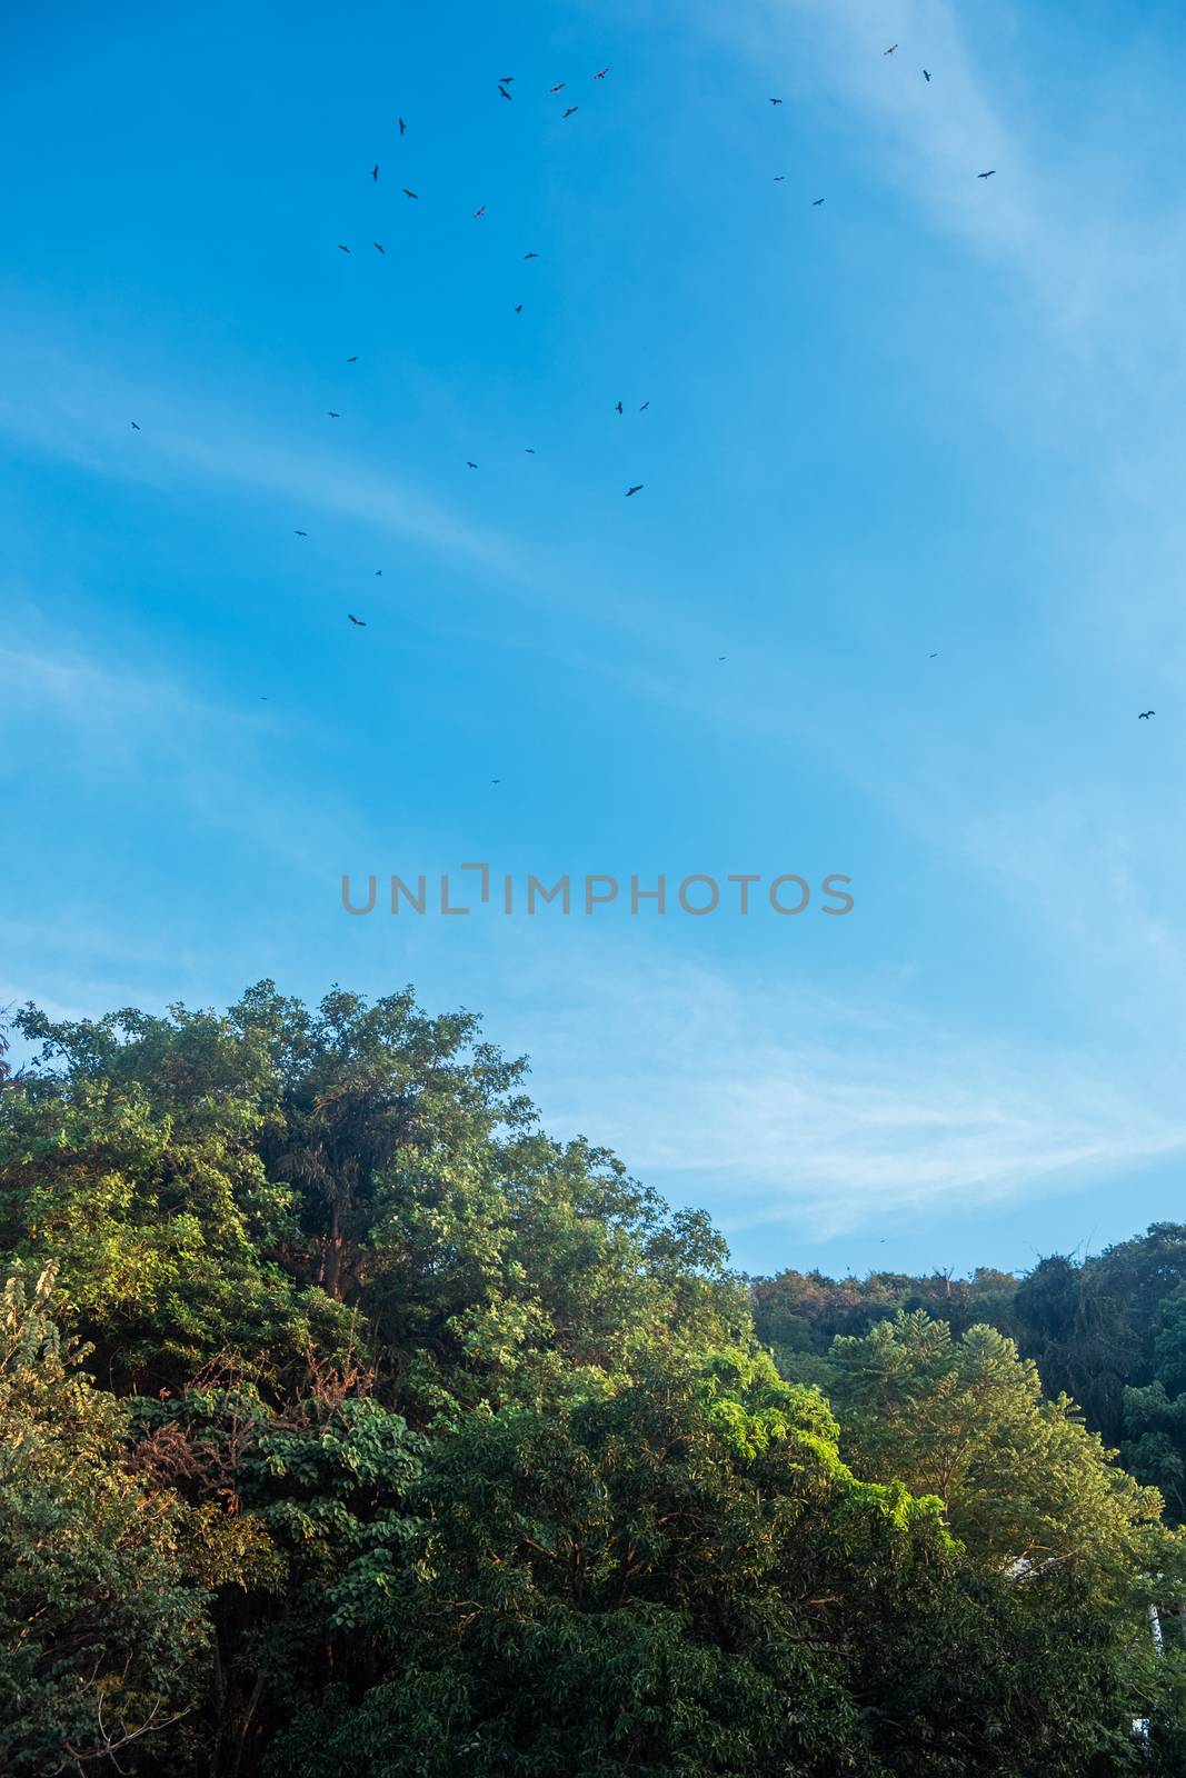
<path id="1" fill-rule="evenodd" d="M 1181 11 L 11 48 L 0 1001 L 414 981 L 749 1269 L 1181 1214 Z M 341 910 L 477 859 L 855 909 Z"/>

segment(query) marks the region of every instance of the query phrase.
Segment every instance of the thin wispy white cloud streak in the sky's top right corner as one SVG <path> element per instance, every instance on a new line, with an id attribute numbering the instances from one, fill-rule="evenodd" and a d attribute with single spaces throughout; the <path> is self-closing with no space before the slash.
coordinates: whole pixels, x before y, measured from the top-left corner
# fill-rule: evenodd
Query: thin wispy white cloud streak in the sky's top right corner
<path id="1" fill-rule="evenodd" d="M 1124 114 L 1102 103 L 1104 80 L 1115 100 L 1111 66 L 1101 69 L 1099 101 L 1085 94 L 1069 133 L 1024 66 L 1021 14 L 998 5 L 990 20 L 976 32 L 950 0 L 747 0 L 701 16 L 765 71 L 786 69 L 779 78 L 814 116 L 823 105 L 855 114 L 885 185 L 1014 274 L 1063 348 L 1147 364 L 1150 309 L 1166 336 L 1181 313 L 1186 212 L 1134 203 L 1124 165 L 1134 132 L 1120 135 Z M 882 53 L 889 43 L 898 43 L 893 57 Z M 992 180 L 982 181 L 989 169 Z M 1143 341 L 1131 325 L 1136 302 Z"/>

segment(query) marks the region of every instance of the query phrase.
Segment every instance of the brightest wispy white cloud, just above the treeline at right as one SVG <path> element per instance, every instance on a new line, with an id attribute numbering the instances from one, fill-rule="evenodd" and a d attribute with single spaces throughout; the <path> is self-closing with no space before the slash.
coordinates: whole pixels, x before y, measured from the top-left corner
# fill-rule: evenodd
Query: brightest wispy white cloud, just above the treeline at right
<path id="1" fill-rule="evenodd" d="M 725 1230 L 823 1239 L 923 1205 L 951 1211 L 1186 1150 L 1186 1118 L 1038 1038 L 1008 1045 L 900 1008 L 773 994 L 637 955 L 569 957 L 530 1031 L 555 1129 L 619 1149 L 644 1179 L 711 1197 Z"/>

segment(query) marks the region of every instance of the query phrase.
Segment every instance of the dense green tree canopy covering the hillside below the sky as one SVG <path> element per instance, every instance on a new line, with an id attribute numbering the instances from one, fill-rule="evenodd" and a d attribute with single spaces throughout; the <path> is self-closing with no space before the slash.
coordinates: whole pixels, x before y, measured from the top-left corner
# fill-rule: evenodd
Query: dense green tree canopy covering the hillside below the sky
<path id="1" fill-rule="evenodd" d="M 411 990 L 11 1031 L 0 1771 L 1184 1769 L 1186 1227 L 750 1282 Z"/>

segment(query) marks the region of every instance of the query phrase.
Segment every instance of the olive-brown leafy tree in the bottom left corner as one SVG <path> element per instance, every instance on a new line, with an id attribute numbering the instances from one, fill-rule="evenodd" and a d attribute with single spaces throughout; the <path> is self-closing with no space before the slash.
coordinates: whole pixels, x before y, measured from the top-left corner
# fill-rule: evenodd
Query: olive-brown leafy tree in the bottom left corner
<path id="1" fill-rule="evenodd" d="M 140 1769 L 185 1723 L 210 1641 L 210 1527 L 123 1462 L 126 1415 L 50 1319 L 53 1275 L 0 1303 L 0 1767 Z M 224 1565 L 251 1563 L 233 1527 Z"/>

